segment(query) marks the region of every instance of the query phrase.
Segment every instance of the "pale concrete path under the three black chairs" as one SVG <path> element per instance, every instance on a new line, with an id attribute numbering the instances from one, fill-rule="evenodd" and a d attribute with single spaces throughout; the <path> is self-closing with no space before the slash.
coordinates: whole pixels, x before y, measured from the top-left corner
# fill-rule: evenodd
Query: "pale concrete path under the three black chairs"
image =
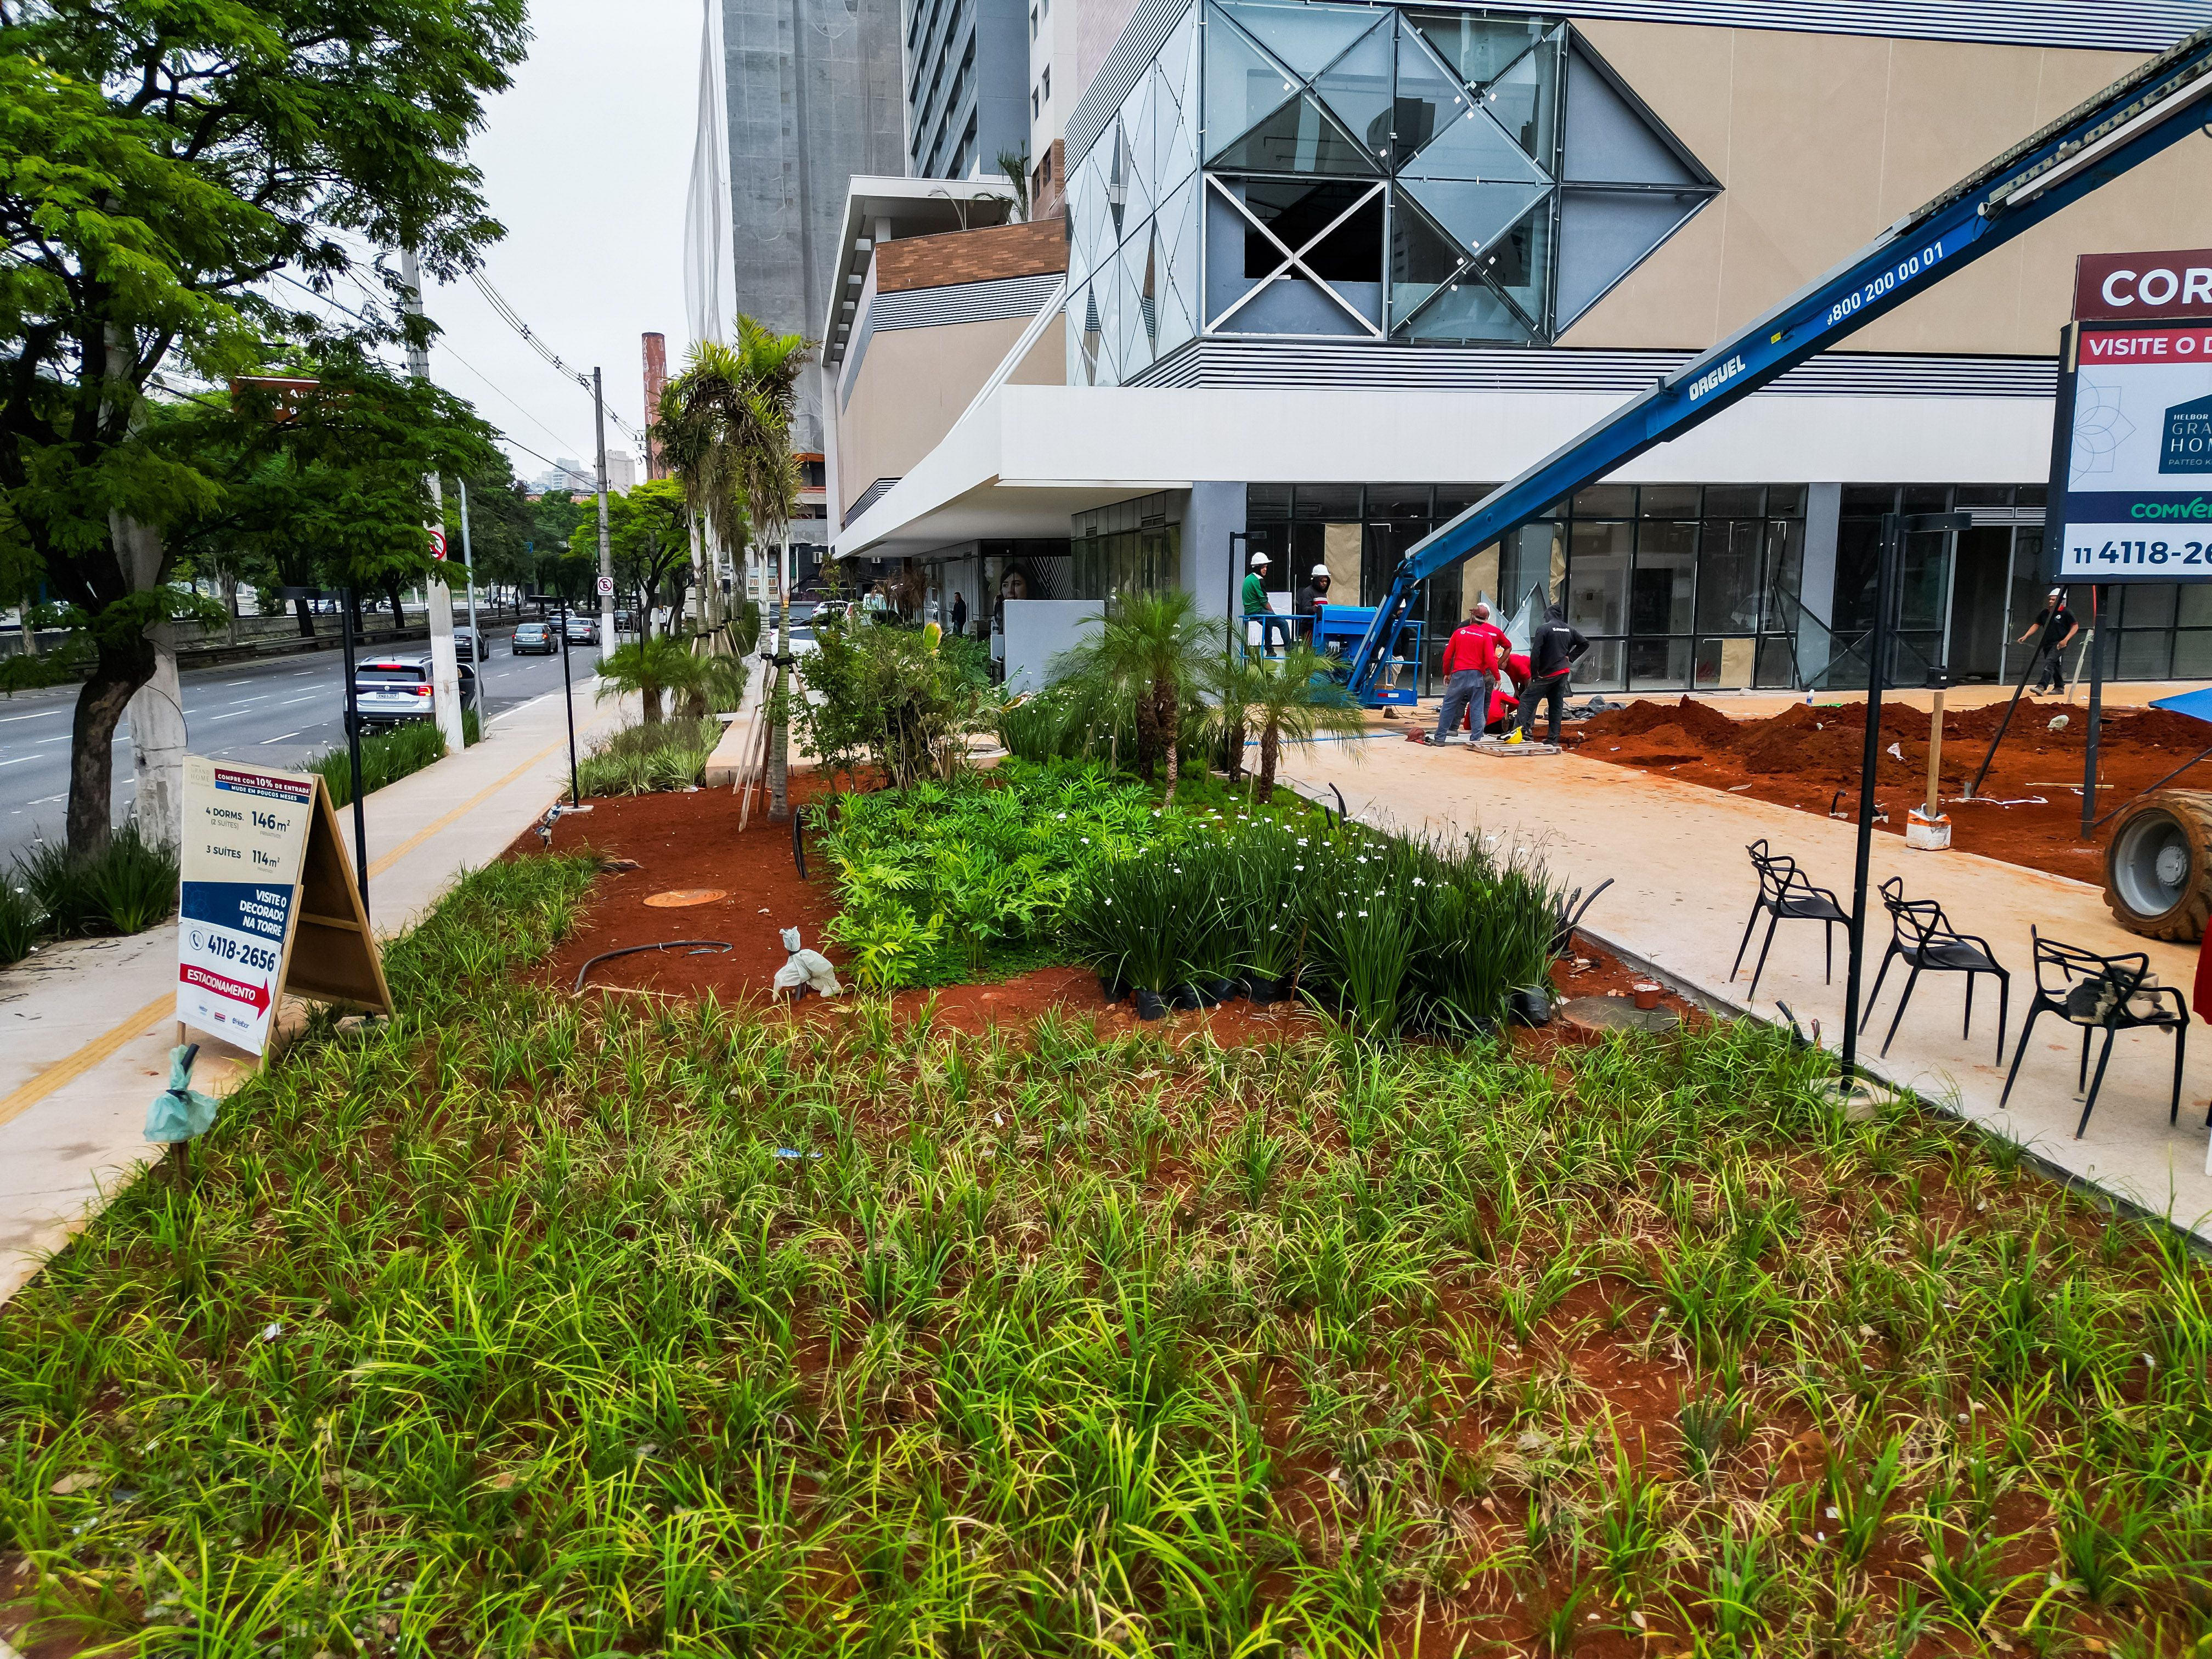
<path id="1" fill-rule="evenodd" d="M 1431 719 L 1433 723 L 1433 719 Z M 1405 726 L 1391 737 L 1400 737 Z M 1765 836 L 1794 856 L 1820 887 L 1851 902 L 1856 825 L 1807 812 L 1725 796 L 1694 783 L 1632 772 L 1575 754 L 1486 754 L 1464 745 L 1422 748 L 1374 737 L 1329 743 L 1285 757 L 1285 776 L 1303 792 L 1334 801 L 1343 790 L 1352 816 L 1411 832 L 1478 830 L 1500 854 L 1540 856 L 1562 887 L 1615 885 L 1590 909 L 1590 929 L 1646 958 L 1697 991 L 1743 1006 L 1765 918 L 1752 936 L 1743 971 L 1730 962 L 1743 940 L 1759 883 L 1745 845 Z M 1975 807 L 1960 807 L 1975 810 Z M 1982 807 L 2002 812 L 2002 807 Z M 1882 1033 L 1905 989 L 1898 967 L 1882 987 L 1863 1055 L 1891 1082 L 1907 1084 L 1953 1110 L 2033 1148 L 2042 1159 L 2095 1181 L 2148 1210 L 2172 1214 L 2212 1239 L 2212 1177 L 2205 1172 L 2205 1102 L 2212 1097 L 2212 1033 L 2194 1026 L 2181 1088 L 2181 1121 L 2166 1124 L 2174 1040 L 2124 1033 L 2112 1046 L 2097 1113 L 2084 1139 L 2075 1095 L 2079 1031 L 2055 1015 L 2035 1026 L 2006 1110 L 1997 1110 L 2004 1066 L 2020 1040 L 2033 998 L 2028 927 L 2044 938 L 2104 956 L 2148 951 L 2163 984 L 2188 993 L 2194 945 L 2161 945 L 2112 922 L 2104 894 L 2064 876 L 2020 869 L 1962 852 L 1907 852 L 1902 836 L 1876 832 L 1869 896 L 1889 876 L 1905 878 L 1909 898 L 1940 898 L 1953 927 L 1984 933 L 2011 969 L 2011 1022 L 2004 1064 L 1997 1057 L 1997 998 L 1984 978 L 1975 991 L 1973 1037 L 1960 1037 L 1964 984 L 1958 973 L 1924 973 L 1887 1060 Z M 1867 989 L 1889 942 L 1889 916 L 1871 898 L 1867 920 Z M 1820 1020 L 1823 1042 L 1843 1035 L 1845 929 L 1836 929 L 1836 978 L 1823 984 L 1820 927 L 1783 922 L 1759 982 L 1759 1013 L 1778 1018 L 1776 1000 L 1801 1020 Z M 2097 1037 L 2104 1046 L 2104 1037 Z M 2095 1060 L 2090 1062 L 2095 1068 Z"/>

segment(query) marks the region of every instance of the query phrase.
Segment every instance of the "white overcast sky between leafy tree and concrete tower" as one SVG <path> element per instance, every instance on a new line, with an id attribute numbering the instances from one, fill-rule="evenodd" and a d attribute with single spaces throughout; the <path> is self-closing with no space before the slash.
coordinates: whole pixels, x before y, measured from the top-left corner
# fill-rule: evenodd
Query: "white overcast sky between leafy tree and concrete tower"
<path id="1" fill-rule="evenodd" d="M 531 0 L 531 55 L 484 113 L 471 155 L 507 226 L 484 274 L 566 363 L 606 372 L 606 407 L 644 427 L 639 334 L 681 367 L 684 195 L 699 106 L 699 0 Z M 591 467 L 591 396 L 564 380 L 467 281 L 422 296 L 445 330 L 431 374 L 538 456 Z M 520 405 L 520 407 L 518 407 Z M 538 456 L 524 453 L 522 447 Z M 608 453 L 633 449 L 608 422 Z"/>

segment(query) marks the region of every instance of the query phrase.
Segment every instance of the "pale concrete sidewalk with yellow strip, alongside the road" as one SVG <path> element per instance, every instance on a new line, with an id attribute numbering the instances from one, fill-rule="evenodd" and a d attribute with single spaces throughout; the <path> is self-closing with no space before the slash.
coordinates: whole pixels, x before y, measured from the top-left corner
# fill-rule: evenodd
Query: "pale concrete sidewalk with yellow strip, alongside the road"
<path id="1" fill-rule="evenodd" d="M 635 697 L 595 703 L 577 684 L 577 750 L 635 714 Z M 560 692 L 498 714 L 484 741 L 400 779 L 365 803 L 369 920 L 405 931 L 465 872 L 498 858 L 568 792 Z M 338 823 L 352 849 L 354 814 Z M 177 1042 L 177 931 L 49 945 L 0 969 L 0 1301 L 144 1168 L 146 1104 L 168 1082 Z M 246 1057 L 204 1042 L 192 1082 L 221 1095 Z M 232 1051 L 234 1055 L 234 1051 Z"/>

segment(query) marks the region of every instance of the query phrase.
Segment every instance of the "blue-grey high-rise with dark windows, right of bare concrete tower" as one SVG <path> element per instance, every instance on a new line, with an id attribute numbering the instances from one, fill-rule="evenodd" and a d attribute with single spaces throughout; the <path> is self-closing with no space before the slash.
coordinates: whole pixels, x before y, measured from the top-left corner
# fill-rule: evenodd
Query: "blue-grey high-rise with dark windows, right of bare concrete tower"
<path id="1" fill-rule="evenodd" d="M 1026 150 L 1026 0 L 905 0 L 907 177 L 1002 177 Z"/>

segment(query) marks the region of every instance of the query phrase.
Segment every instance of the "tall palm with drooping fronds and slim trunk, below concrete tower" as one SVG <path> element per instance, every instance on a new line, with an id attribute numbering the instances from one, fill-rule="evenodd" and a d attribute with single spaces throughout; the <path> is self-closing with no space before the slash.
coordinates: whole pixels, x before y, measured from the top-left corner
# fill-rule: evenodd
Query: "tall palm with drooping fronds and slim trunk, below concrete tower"
<path id="1" fill-rule="evenodd" d="M 792 414 L 807 341 L 774 334 L 750 316 L 737 319 L 737 345 L 703 341 L 661 394 L 661 453 L 686 495 L 717 533 L 750 522 L 754 546 L 781 551 L 783 529 L 799 509 L 799 460 Z M 743 531 L 739 531 L 743 535 Z M 768 816 L 790 816 L 790 584 L 776 584 L 776 679 L 770 688 Z"/>

